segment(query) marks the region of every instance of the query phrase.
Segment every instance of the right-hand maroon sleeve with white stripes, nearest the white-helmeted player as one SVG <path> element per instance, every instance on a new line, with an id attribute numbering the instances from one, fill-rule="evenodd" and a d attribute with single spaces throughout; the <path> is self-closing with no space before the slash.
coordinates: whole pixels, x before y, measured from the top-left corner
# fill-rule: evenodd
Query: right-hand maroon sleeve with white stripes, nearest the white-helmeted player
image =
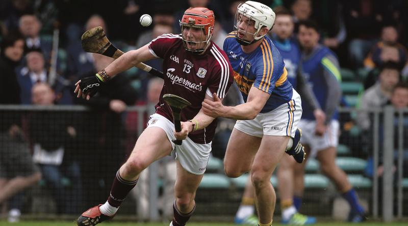
<path id="1" fill-rule="evenodd" d="M 227 55 L 218 46 L 212 45 L 210 52 L 214 56 L 216 64 L 213 68 L 213 77 L 208 89 L 211 94 L 216 93 L 219 98 L 224 98 L 233 82 L 233 69 Z"/>

